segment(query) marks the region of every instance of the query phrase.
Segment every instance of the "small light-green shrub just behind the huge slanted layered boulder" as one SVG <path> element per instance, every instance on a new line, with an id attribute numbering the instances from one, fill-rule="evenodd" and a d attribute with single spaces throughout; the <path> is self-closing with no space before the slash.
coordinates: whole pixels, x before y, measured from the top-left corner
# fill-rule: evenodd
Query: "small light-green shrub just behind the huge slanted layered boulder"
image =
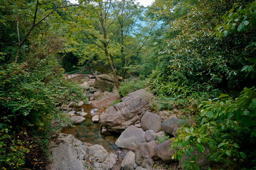
<path id="1" fill-rule="evenodd" d="M 143 89 L 147 87 L 147 80 L 127 80 L 122 82 L 119 86 L 118 92 L 120 96 L 125 97 L 128 93 L 135 92 L 139 89 Z"/>

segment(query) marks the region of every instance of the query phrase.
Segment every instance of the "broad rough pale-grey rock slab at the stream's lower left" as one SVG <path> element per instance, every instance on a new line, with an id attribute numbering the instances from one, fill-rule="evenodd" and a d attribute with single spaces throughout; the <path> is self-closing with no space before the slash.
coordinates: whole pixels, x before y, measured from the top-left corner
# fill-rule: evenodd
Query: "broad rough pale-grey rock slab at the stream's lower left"
<path id="1" fill-rule="evenodd" d="M 108 153 L 99 144 L 83 143 L 72 135 L 62 133 L 57 141 L 57 144 L 50 145 L 53 161 L 48 164 L 47 170 L 110 170 L 116 163 L 117 155 Z"/>

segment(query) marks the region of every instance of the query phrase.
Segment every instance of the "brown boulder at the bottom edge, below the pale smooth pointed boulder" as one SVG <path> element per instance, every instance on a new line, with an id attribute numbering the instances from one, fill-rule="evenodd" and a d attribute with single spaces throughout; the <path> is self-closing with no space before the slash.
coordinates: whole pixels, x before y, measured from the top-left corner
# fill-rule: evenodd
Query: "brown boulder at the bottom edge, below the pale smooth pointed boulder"
<path id="1" fill-rule="evenodd" d="M 155 154 L 154 147 L 158 144 L 157 141 L 151 141 L 149 143 L 137 144 L 135 150 L 135 161 L 139 166 L 152 170 L 154 160 L 152 157 L 158 158 Z"/>

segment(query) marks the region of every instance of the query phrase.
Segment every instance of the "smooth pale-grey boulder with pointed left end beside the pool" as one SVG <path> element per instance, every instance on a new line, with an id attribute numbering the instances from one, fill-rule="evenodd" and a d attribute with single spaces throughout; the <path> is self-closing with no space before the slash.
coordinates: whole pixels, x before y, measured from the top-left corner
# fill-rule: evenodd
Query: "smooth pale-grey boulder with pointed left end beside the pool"
<path id="1" fill-rule="evenodd" d="M 129 126 L 119 136 L 115 144 L 119 148 L 129 149 L 134 151 L 137 144 L 146 142 L 145 132 L 135 126 Z"/>

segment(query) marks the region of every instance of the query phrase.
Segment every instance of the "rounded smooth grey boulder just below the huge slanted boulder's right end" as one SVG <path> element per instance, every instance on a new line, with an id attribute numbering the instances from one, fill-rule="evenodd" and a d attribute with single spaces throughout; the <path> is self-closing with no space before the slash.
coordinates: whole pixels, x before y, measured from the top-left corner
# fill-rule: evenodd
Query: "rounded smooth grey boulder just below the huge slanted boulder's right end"
<path id="1" fill-rule="evenodd" d="M 143 130 L 154 130 L 155 133 L 161 131 L 161 117 L 157 114 L 146 112 L 141 118 L 141 128 Z"/>

